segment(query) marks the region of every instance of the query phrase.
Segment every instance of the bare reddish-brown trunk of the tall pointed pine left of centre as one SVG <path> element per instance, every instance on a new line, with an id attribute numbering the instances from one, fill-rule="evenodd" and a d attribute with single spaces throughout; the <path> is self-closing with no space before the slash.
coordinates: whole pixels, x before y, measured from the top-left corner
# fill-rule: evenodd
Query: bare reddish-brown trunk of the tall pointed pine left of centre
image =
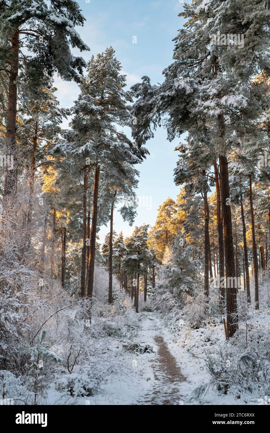
<path id="1" fill-rule="evenodd" d="M 97 221 L 98 221 L 99 172 L 100 172 L 100 166 L 97 165 L 96 169 L 95 169 L 95 175 L 94 175 L 91 240 L 90 240 L 90 254 L 89 254 L 87 294 L 86 294 L 86 297 L 89 298 L 91 302 L 92 302 L 93 286 L 94 286 L 94 256 L 95 256 L 95 252 L 96 252 L 96 235 L 97 235 Z"/>

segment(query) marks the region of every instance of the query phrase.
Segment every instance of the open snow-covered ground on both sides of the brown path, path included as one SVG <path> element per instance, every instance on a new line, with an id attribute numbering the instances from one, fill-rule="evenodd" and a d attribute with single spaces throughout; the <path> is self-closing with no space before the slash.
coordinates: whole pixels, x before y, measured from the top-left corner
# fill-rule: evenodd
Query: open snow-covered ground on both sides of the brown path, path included
<path id="1" fill-rule="evenodd" d="M 254 314 L 257 326 L 270 327 L 270 314 Z M 132 341 L 153 347 L 153 353 L 135 354 L 123 349 L 127 340 L 116 338 L 108 348 L 114 352 L 115 370 L 98 393 L 79 404 L 98 405 L 246 405 L 258 404 L 258 396 L 236 398 L 234 394 L 210 390 L 201 401 L 190 400 L 192 391 L 209 381 L 205 357 L 225 341 L 223 324 L 187 331 L 179 320 L 179 334 L 159 312 L 139 313 L 139 329 Z"/>

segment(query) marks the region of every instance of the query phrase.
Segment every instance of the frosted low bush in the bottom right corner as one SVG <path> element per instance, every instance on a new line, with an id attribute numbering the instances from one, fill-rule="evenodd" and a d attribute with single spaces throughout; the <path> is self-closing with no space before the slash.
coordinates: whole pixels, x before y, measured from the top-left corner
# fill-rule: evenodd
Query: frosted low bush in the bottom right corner
<path id="1" fill-rule="evenodd" d="M 223 390 L 238 398 L 254 399 L 270 394 L 270 336 L 254 331 L 248 347 L 238 333 L 206 359 L 211 380 L 199 386 L 192 398 L 202 399 L 209 389 Z"/>

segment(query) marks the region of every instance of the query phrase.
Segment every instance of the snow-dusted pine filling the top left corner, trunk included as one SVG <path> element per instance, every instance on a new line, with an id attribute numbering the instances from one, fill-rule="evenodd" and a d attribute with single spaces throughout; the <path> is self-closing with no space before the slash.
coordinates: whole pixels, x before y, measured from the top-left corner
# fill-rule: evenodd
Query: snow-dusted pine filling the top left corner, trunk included
<path id="1" fill-rule="evenodd" d="M 85 18 L 74 0 L 8 0 L 0 6 L 0 69 L 8 75 L 7 155 L 13 169 L 6 171 L 4 196 L 16 185 L 16 113 L 19 71 L 33 87 L 45 85 L 57 72 L 65 80 L 80 81 L 85 61 L 70 47 L 88 50 L 75 26 Z M 27 55 L 25 55 L 27 52 Z"/>

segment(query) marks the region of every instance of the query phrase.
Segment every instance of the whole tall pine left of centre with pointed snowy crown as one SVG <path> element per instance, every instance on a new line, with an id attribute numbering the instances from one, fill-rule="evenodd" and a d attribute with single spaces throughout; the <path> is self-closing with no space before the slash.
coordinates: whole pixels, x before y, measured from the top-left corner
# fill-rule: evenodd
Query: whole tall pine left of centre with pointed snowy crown
<path id="1" fill-rule="evenodd" d="M 97 232 L 98 188 L 100 172 L 120 177 L 123 164 L 137 164 L 147 151 L 131 142 L 117 127 L 127 124 L 131 94 L 124 90 L 126 77 L 112 47 L 92 56 L 81 94 L 72 108 L 71 131 L 66 133 L 67 150 L 85 157 L 85 168 L 94 170 L 91 242 L 88 263 L 87 297 L 93 293 L 95 240 Z"/>

